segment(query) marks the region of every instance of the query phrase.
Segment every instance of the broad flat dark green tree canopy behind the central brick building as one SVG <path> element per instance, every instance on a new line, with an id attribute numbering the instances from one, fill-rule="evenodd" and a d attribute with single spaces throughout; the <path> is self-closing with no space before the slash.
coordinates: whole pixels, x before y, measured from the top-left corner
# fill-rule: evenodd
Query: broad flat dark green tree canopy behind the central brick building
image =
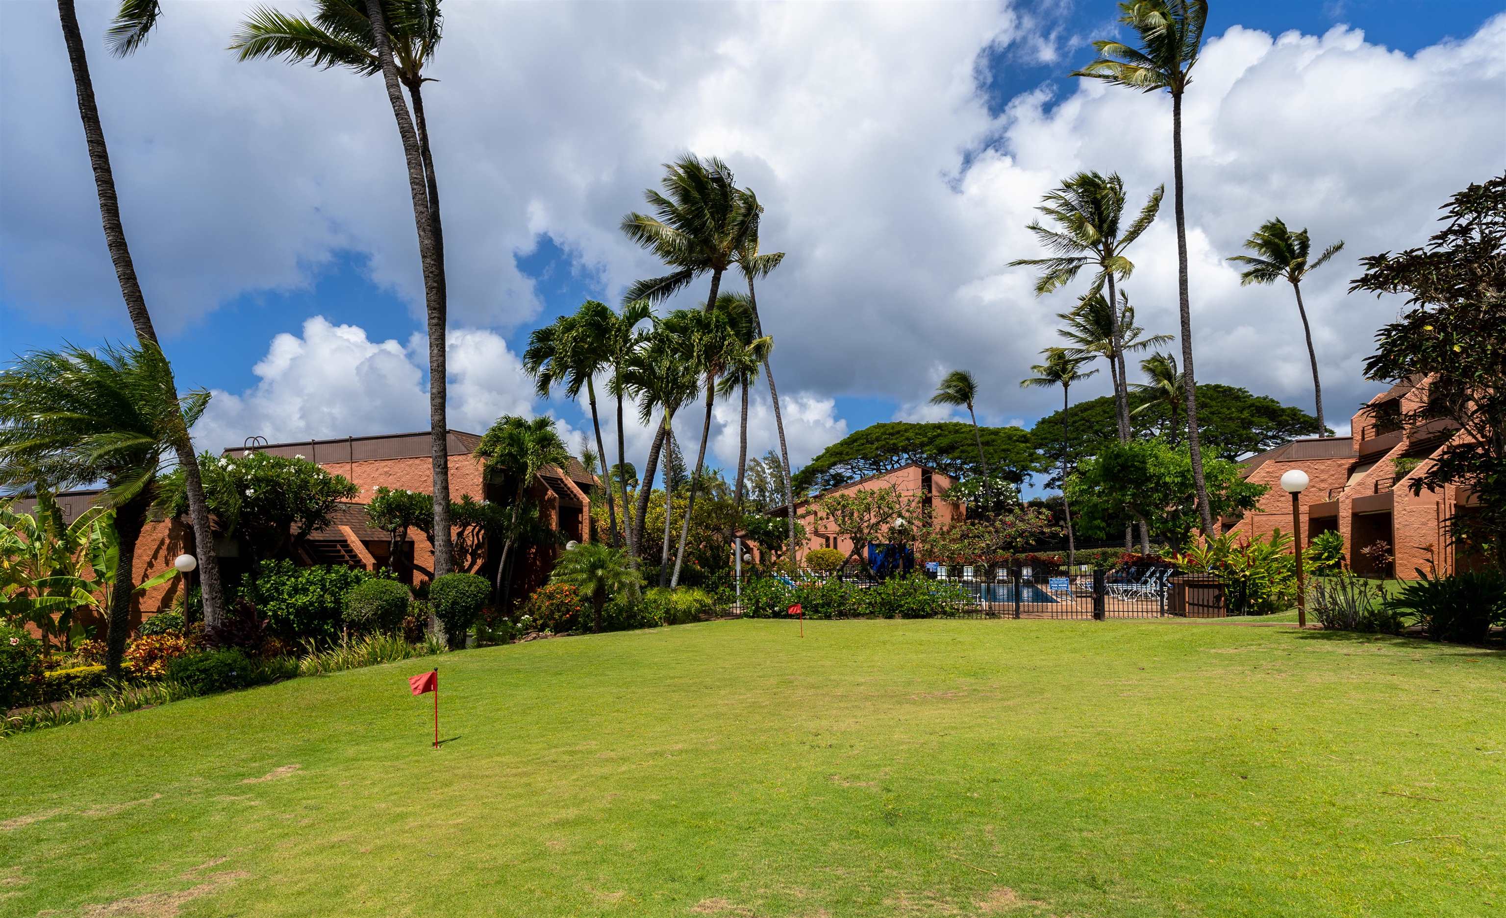
<path id="1" fill-rule="evenodd" d="M 1074 411 L 1077 411 L 1075 406 Z M 1044 467 L 1044 459 L 1036 454 L 1035 439 L 1021 427 L 980 427 L 977 435 L 983 441 L 983 456 L 988 459 L 989 473 L 1006 482 L 1024 482 L 1029 474 Z M 1054 451 L 1050 454 L 1059 456 L 1062 448 L 1060 418 L 1053 442 L 1054 447 L 1048 447 L 1048 450 Z M 791 483 L 795 494 L 801 495 L 893 471 L 911 462 L 958 479 L 980 474 L 973 424 L 961 421 L 872 424 L 828 445 L 809 465 L 795 473 Z"/>

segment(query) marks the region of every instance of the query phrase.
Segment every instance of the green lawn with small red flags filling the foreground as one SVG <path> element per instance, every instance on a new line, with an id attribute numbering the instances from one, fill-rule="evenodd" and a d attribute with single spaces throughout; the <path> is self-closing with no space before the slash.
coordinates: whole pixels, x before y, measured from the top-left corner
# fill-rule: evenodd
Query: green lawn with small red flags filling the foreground
<path id="1" fill-rule="evenodd" d="M 1506 655 L 721 622 L 0 742 L 5 915 L 1506 912 Z"/>

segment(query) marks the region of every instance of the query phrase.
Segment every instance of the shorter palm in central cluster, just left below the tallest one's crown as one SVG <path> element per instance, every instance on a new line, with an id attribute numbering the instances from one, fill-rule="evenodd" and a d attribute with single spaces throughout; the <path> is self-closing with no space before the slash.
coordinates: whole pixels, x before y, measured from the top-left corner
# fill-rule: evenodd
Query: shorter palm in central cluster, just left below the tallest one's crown
<path id="1" fill-rule="evenodd" d="M 679 315 L 657 321 L 642 348 L 634 351 L 622 372 L 622 387 L 639 400 L 639 420 L 652 423 L 654 412 L 661 420 L 654 432 L 648 462 L 643 465 L 643 485 L 639 488 L 639 507 L 634 542 L 643 545 L 648 525 L 649 492 L 654 489 L 654 474 L 658 471 L 660 454 L 666 456 L 664 468 L 664 546 L 660 555 L 660 581 L 669 581 L 670 510 L 673 486 L 669 462 L 673 457 L 675 412 L 688 405 L 700 391 L 696 369 L 684 360 L 682 343 L 678 340 Z"/>

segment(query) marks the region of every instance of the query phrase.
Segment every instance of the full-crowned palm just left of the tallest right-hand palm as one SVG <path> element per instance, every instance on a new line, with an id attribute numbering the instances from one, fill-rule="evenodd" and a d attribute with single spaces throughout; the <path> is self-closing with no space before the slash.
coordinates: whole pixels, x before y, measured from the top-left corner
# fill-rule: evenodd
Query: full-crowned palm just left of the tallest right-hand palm
<path id="1" fill-rule="evenodd" d="M 1123 253 L 1155 221 L 1164 193 L 1164 185 L 1152 191 L 1140 214 L 1120 232 L 1119 224 L 1125 212 L 1123 181 L 1117 173 L 1104 176 L 1096 172 L 1080 172 L 1062 182 L 1060 188 L 1048 191 L 1042 199 L 1044 203 L 1036 208 L 1051 220 L 1054 229 L 1042 226 L 1039 220 L 1027 227 L 1051 257 L 1017 259 L 1009 265 L 1041 268 L 1036 296 L 1071 283 L 1083 268 L 1093 266 L 1096 271 L 1089 296 L 1107 284 L 1108 302 L 1114 302 L 1114 280 L 1130 277 L 1134 271 L 1134 262 Z M 1113 339 L 1122 340 L 1117 313 L 1110 312 L 1108 318 L 1113 322 Z M 1116 364 L 1113 372 L 1123 379 L 1123 348 L 1116 348 L 1110 360 Z M 1114 388 L 1114 418 L 1119 424 L 1119 439 L 1130 439 L 1130 402 L 1122 387 Z"/>

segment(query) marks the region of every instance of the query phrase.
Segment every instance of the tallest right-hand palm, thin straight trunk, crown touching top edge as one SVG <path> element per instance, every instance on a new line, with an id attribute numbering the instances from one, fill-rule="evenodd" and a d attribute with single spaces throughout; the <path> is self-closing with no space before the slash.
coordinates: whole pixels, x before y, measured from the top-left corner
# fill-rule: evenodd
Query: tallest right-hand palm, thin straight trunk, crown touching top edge
<path id="1" fill-rule="evenodd" d="M 1116 41 L 1093 42 L 1098 59 L 1074 77 L 1102 80 L 1140 92 L 1172 93 L 1172 185 L 1176 214 L 1176 292 L 1182 316 L 1182 376 L 1187 393 L 1187 447 L 1193 461 L 1193 483 L 1197 488 L 1197 513 L 1203 534 L 1212 537 L 1214 516 L 1208 504 L 1208 482 L 1203 479 L 1203 450 L 1197 435 L 1197 382 L 1193 373 L 1193 307 L 1187 292 L 1187 211 L 1182 181 L 1182 93 L 1191 81 L 1193 65 L 1203 44 L 1208 23 L 1208 0 L 1125 0 L 1119 5 L 1119 21 L 1140 35 L 1140 47 Z"/>

